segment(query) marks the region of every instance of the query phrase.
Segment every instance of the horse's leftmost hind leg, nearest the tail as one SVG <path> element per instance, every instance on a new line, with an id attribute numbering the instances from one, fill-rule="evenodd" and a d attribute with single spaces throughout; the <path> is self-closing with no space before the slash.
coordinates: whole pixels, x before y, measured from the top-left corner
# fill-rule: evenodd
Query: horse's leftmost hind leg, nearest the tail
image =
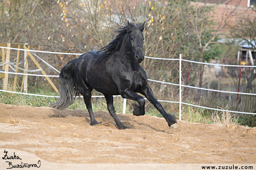
<path id="1" fill-rule="evenodd" d="M 90 125 L 93 126 L 93 125 L 97 125 L 99 124 L 96 120 L 95 120 L 95 117 L 93 115 L 93 112 L 92 112 L 92 103 L 91 103 L 91 97 L 92 97 L 92 88 L 87 88 L 87 87 L 84 87 L 84 88 L 79 88 L 78 87 L 78 90 L 79 92 L 84 96 L 84 103 L 86 105 L 86 108 L 89 112 L 89 115 L 90 115 L 90 118 L 91 118 L 91 123 Z"/>

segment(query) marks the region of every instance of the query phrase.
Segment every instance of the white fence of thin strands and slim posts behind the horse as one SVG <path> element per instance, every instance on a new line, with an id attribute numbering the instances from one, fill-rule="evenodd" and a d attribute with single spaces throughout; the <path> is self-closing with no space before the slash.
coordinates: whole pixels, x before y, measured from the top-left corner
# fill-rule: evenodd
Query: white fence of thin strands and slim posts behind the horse
<path id="1" fill-rule="evenodd" d="M 50 54 L 64 54 L 64 55 L 82 55 L 79 53 L 57 53 L 57 52 L 45 52 L 45 51 L 39 51 L 39 50 L 28 50 L 28 49 L 19 49 L 19 48 L 10 48 L 10 47 L 1 47 L 0 48 L 5 48 L 5 49 L 14 49 L 14 50 L 24 50 L 24 51 L 29 51 L 29 52 L 36 52 L 36 53 L 50 53 Z M 35 54 L 34 54 L 35 55 Z M 36 55 L 37 56 L 37 55 Z M 38 57 L 38 56 L 37 56 Z M 39 57 L 38 57 L 39 58 Z M 151 80 L 148 79 L 148 81 L 153 81 L 153 82 L 158 82 L 158 83 L 165 83 L 165 84 L 170 84 L 172 86 L 179 86 L 179 101 L 166 101 L 166 100 L 158 100 L 161 102 L 167 102 L 167 103 L 177 103 L 179 104 L 179 120 L 181 120 L 181 105 L 189 105 L 193 107 L 199 107 L 199 108 L 205 108 L 205 109 L 212 109 L 215 111 L 225 111 L 225 112 L 232 112 L 232 113 L 241 113 L 241 114 L 253 114 L 256 115 L 256 113 L 249 113 L 249 112 L 238 112 L 238 111 L 227 111 L 224 109 L 217 109 L 217 108 L 210 108 L 210 107 L 203 107 L 203 106 L 198 106 L 198 105 L 193 105 L 189 103 L 184 103 L 182 102 L 182 87 L 187 87 L 187 88 L 195 88 L 195 89 L 201 89 L 201 90 L 209 90 L 209 91 L 215 91 L 215 92 L 223 92 L 223 93 L 229 93 L 229 94 L 241 94 L 241 95 L 253 95 L 256 96 L 256 94 L 250 94 L 250 93 L 245 93 L 245 92 L 233 92 L 233 91 L 223 91 L 223 90 L 213 90 L 213 89 L 205 89 L 205 88 L 198 88 L 198 87 L 193 87 L 193 86 L 186 86 L 182 85 L 182 80 L 181 80 L 181 73 L 182 73 L 182 68 L 181 68 L 181 63 L 183 62 L 190 62 L 190 63 L 197 63 L 197 64 L 206 64 L 206 65 L 219 65 L 219 66 L 230 66 L 230 67 L 254 67 L 256 66 L 250 66 L 250 65 L 225 65 L 225 64 L 212 64 L 212 63 L 202 63 L 202 62 L 195 62 L 195 61 L 189 61 L 189 60 L 183 60 L 182 56 L 180 54 L 179 59 L 177 58 L 156 58 L 156 57 L 147 57 L 145 58 L 151 58 L 154 60 L 169 60 L 169 61 L 179 61 L 179 84 L 175 83 L 170 83 L 170 82 L 164 82 L 164 81 L 157 81 L 157 80 Z M 42 60 L 41 58 L 39 58 Z M 42 60 L 43 61 L 43 60 Z M 9 61 L 7 61 L 9 62 Z M 0 64 L 7 64 L 5 63 L 0 63 Z M 44 62 L 44 61 L 43 61 Z M 46 62 L 45 62 L 46 63 Z M 50 67 L 52 67 L 55 71 L 59 72 L 57 69 L 55 69 L 53 66 L 47 63 Z M 4 72 L 0 71 L 0 73 L 9 73 L 9 74 L 20 74 L 20 75 L 31 75 L 31 76 L 39 76 L 39 77 L 59 77 L 59 75 L 38 75 L 38 74 L 23 74 L 23 73 L 12 73 L 12 72 Z M 54 98 L 59 98 L 59 96 L 45 96 L 45 95 L 37 95 L 37 94 L 27 94 L 23 92 L 15 92 L 15 91 L 7 91 L 7 90 L 0 90 L 4 92 L 10 92 L 10 93 L 15 93 L 15 94 L 22 94 L 22 95 L 31 95 L 31 96 L 41 96 L 41 97 L 54 97 Z M 104 96 L 92 96 L 92 97 L 104 97 Z M 120 95 L 114 96 L 114 97 L 121 97 Z M 145 98 L 146 99 L 146 98 Z M 123 103 L 123 113 L 125 114 L 125 107 L 126 107 L 126 99 L 124 99 Z"/>

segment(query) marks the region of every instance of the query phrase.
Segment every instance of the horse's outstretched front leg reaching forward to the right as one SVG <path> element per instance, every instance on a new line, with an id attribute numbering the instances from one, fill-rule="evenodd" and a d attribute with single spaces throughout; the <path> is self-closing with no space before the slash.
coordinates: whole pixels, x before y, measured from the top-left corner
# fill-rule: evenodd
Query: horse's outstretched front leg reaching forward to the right
<path id="1" fill-rule="evenodd" d="M 149 85 L 147 85 L 147 88 L 141 93 L 142 95 L 145 95 L 146 98 L 150 101 L 151 104 L 155 106 L 155 108 L 160 112 L 160 114 L 165 118 L 166 122 L 169 126 L 172 124 L 177 123 L 176 117 L 174 114 L 169 115 L 165 112 L 163 106 L 159 103 L 159 101 L 155 98 L 151 88 Z"/>

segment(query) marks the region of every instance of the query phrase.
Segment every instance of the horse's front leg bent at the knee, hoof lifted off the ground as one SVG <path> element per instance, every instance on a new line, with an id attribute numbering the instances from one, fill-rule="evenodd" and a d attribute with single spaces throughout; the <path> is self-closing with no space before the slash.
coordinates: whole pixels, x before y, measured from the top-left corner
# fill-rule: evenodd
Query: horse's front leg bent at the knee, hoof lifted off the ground
<path id="1" fill-rule="evenodd" d="M 139 103 L 139 106 L 137 106 L 136 104 L 133 104 L 133 115 L 135 115 L 135 116 L 145 115 L 145 103 L 146 103 L 146 101 L 142 96 L 137 95 L 134 91 L 132 91 L 130 89 L 125 89 L 121 93 L 121 95 L 122 95 L 123 98 L 135 100 Z"/>

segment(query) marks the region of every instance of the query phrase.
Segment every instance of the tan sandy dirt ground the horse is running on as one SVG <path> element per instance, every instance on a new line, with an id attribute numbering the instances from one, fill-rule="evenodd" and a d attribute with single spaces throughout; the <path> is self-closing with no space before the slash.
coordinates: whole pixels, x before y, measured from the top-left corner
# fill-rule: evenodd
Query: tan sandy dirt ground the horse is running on
<path id="1" fill-rule="evenodd" d="M 0 104 L 0 148 L 19 149 L 52 163 L 255 164 L 256 128 L 118 114 L 130 129 L 118 130 L 106 112 L 90 126 L 89 113 Z"/>

